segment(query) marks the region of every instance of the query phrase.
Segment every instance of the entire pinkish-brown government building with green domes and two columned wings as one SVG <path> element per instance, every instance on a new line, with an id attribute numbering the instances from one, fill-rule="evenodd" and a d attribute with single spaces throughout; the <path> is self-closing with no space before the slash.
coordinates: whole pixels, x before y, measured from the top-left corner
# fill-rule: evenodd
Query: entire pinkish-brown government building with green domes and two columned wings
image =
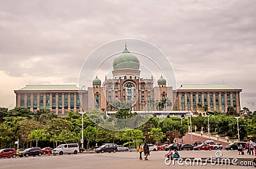
<path id="1" fill-rule="evenodd" d="M 240 111 L 240 92 L 227 84 L 182 84 L 179 89 L 166 85 L 160 76 L 157 84 L 153 77 L 141 78 L 140 61 L 125 44 L 124 51 L 113 60 L 112 78 L 102 82 L 97 76 L 88 89 L 76 85 L 26 85 L 14 91 L 16 107 L 27 107 L 32 112 L 49 108 L 57 115 L 68 111 L 82 112 L 101 109 L 115 112 L 118 108 L 131 111 L 195 112 L 207 106 L 208 111 L 227 112 L 228 107 Z"/>

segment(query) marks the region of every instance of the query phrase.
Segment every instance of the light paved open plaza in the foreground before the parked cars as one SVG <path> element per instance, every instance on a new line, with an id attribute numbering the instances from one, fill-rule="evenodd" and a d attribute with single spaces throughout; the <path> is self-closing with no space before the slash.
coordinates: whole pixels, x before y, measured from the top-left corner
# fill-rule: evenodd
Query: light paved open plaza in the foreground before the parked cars
<path id="1" fill-rule="evenodd" d="M 223 158 L 254 158 L 244 154 L 239 156 L 237 151 L 222 151 Z M 216 158 L 216 151 L 180 151 L 181 158 Z M 241 166 L 218 166 L 207 165 L 173 165 L 164 164 L 164 154 L 166 151 L 151 152 L 148 161 L 139 160 L 139 153 L 136 152 L 116 152 L 116 153 L 82 153 L 70 154 L 62 156 L 41 156 L 41 157 L 28 157 L 28 158 L 3 158 L 0 160 L 0 168 L 90 168 L 90 169 L 114 169 L 114 168 L 241 168 Z M 254 168 L 253 166 L 243 166 L 243 168 Z"/>

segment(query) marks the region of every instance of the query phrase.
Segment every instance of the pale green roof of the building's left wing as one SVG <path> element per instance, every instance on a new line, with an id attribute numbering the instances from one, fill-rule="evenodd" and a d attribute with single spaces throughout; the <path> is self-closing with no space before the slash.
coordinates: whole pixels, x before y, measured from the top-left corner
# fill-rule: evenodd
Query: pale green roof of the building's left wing
<path id="1" fill-rule="evenodd" d="M 78 91 L 76 85 L 26 85 L 18 91 Z"/>

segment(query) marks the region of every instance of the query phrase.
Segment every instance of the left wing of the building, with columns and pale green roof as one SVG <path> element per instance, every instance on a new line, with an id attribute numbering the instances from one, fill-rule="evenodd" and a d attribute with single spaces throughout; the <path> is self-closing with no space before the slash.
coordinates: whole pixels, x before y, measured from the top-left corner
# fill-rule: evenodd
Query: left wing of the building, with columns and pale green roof
<path id="1" fill-rule="evenodd" d="M 56 115 L 67 115 L 68 111 L 83 111 L 79 92 L 83 96 L 87 91 L 78 92 L 76 85 L 26 85 L 14 92 L 16 107 L 26 107 L 32 112 L 49 108 Z"/>

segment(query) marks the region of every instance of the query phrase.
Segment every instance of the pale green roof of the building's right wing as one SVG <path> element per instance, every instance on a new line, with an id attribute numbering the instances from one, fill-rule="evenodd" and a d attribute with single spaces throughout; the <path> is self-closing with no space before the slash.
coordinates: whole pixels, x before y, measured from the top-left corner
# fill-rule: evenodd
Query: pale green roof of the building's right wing
<path id="1" fill-rule="evenodd" d="M 182 84 L 178 90 L 239 90 L 228 84 Z"/>

